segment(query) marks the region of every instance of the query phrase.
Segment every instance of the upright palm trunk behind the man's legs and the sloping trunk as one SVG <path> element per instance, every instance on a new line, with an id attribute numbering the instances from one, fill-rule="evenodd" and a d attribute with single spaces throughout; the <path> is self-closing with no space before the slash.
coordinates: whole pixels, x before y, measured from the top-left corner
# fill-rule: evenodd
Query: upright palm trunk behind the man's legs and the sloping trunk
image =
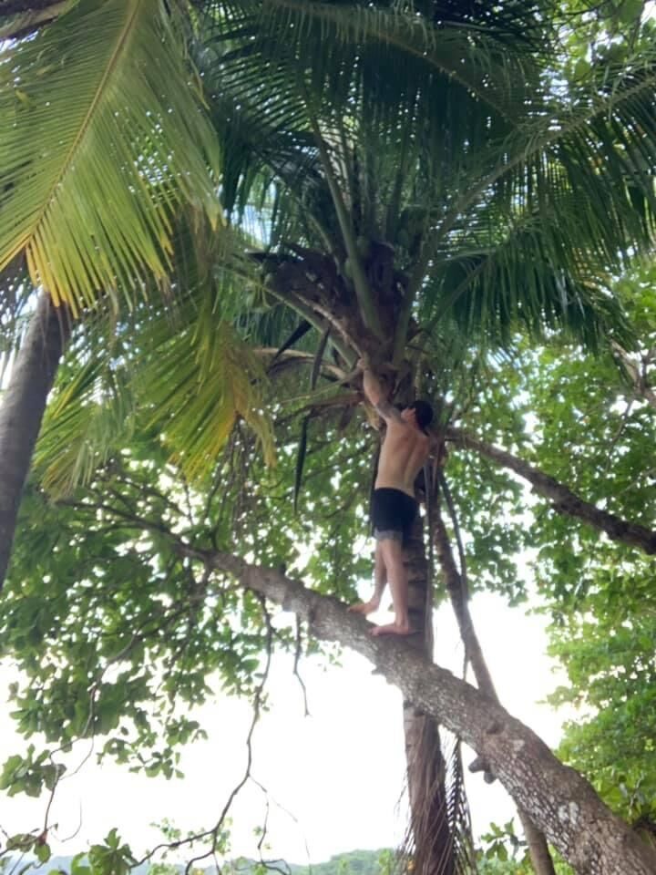
<path id="1" fill-rule="evenodd" d="M 433 659 L 433 600 L 425 558 L 422 522 L 417 517 L 405 547 L 410 625 L 419 631 L 408 639 L 426 659 Z M 435 717 L 409 699 L 404 701 L 405 760 L 414 875 L 453 875 L 454 842 L 446 805 L 446 764 Z"/>

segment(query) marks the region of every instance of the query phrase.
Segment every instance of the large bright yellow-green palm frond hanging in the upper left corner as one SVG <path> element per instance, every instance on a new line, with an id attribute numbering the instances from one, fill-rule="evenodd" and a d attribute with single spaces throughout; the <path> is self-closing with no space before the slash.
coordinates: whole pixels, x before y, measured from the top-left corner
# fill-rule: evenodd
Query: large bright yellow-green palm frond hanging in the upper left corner
<path id="1" fill-rule="evenodd" d="M 0 129 L 0 270 L 25 251 L 76 313 L 166 276 L 181 203 L 219 219 L 216 139 L 161 0 L 81 0 L 5 49 Z"/>

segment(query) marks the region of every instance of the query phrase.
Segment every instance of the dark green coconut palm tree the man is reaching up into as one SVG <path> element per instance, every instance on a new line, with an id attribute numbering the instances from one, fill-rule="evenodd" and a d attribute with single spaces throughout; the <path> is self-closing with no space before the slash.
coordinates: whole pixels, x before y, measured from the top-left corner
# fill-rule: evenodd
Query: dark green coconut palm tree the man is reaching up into
<path id="1" fill-rule="evenodd" d="M 239 119 L 224 145 L 236 160 L 227 205 L 239 214 L 258 185 L 261 199 L 271 189 L 267 291 L 317 341 L 339 341 L 345 372 L 344 345 L 370 355 L 396 398 L 417 382 L 435 391 L 454 335 L 498 343 L 518 324 L 562 326 L 594 343 L 621 329 L 600 271 L 620 263 L 626 232 L 649 242 L 650 220 L 628 199 L 607 213 L 608 180 L 594 167 L 603 153 L 618 180 L 633 179 L 620 151 L 633 122 L 610 92 L 559 93 L 555 54 L 531 26 L 536 11 L 513 7 L 510 20 L 476 5 L 426 4 L 417 16 L 385 5 L 243 4 L 217 22 L 226 47 L 205 73 L 215 127 L 232 138 L 226 122 Z M 625 83 L 631 95 L 643 77 Z M 611 104 L 612 133 L 599 115 Z M 414 568 L 421 551 L 408 552 Z M 411 602 L 430 612 L 425 575 L 412 580 Z M 427 723 L 410 703 L 417 861 L 447 872 L 442 758 Z M 531 846 L 538 872 L 553 872 L 544 839 Z"/>

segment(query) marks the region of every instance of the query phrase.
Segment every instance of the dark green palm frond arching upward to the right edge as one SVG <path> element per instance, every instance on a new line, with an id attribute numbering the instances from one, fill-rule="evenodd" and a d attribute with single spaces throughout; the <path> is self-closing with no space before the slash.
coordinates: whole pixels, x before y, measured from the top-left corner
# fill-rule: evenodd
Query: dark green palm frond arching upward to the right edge
<path id="1" fill-rule="evenodd" d="M 656 208 L 654 87 L 654 52 L 628 67 L 593 70 L 585 85 L 564 99 L 545 103 L 505 143 L 490 142 L 489 159 L 479 161 L 481 169 L 486 164 L 487 168 L 478 180 L 472 174 L 469 186 L 446 211 L 426 249 L 426 260 L 428 252 L 435 252 L 480 203 L 500 196 L 511 209 L 516 209 L 518 199 L 539 204 L 549 197 L 554 183 L 575 190 L 581 204 L 589 208 L 581 219 L 594 217 L 594 227 L 589 229 L 592 241 L 610 228 L 606 237 L 616 245 L 607 247 L 606 254 L 621 255 L 631 244 L 651 242 Z M 609 199 L 610 179 L 622 196 Z M 606 222 L 601 218 L 604 212 Z"/>

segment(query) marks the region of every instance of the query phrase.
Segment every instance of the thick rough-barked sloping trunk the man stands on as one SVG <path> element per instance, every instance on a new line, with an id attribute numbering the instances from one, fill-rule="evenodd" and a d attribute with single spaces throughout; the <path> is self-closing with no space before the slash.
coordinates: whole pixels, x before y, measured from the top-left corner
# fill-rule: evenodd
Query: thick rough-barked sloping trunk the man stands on
<path id="1" fill-rule="evenodd" d="M 201 551 L 178 541 L 181 554 L 230 573 L 283 610 L 309 623 L 326 641 L 351 647 L 405 697 L 483 757 L 518 806 L 579 875 L 654 875 L 656 851 L 616 817 L 585 778 L 564 766 L 527 726 L 489 696 L 430 663 L 406 641 L 375 638 L 364 618 L 280 571 L 230 553 Z"/>

